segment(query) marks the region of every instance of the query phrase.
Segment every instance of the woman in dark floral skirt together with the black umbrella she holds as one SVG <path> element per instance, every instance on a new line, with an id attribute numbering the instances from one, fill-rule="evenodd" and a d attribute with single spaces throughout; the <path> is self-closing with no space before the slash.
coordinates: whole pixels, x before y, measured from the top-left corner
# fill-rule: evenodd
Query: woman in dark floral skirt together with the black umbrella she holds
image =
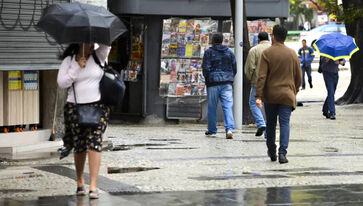
<path id="1" fill-rule="evenodd" d="M 62 55 L 58 84 L 68 89 L 65 112 L 65 137 L 62 155 L 74 149 L 77 172 L 77 195 L 84 195 L 84 166 L 88 153 L 90 170 L 90 198 L 98 198 L 97 179 L 101 163 L 102 135 L 106 130 L 109 108 L 100 103 L 100 80 L 104 74 L 96 63 L 107 60 L 111 45 L 127 31 L 121 20 L 104 7 L 89 4 L 59 3 L 48 6 L 42 12 L 37 26 L 59 44 L 70 44 Z M 100 46 L 94 50 L 94 43 Z M 93 54 L 95 55 L 93 56 Z M 101 110 L 96 127 L 79 127 L 76 108 L 79 105 Z M 87 106 L 86 106 L 87 107 Z M 80 119 L 80 118 L 79 118 Z"/>

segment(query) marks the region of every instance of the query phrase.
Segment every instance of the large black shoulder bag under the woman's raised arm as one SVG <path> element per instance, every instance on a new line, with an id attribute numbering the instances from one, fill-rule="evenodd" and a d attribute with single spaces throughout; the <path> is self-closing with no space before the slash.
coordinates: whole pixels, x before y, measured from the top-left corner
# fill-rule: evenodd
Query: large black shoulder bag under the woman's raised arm
<path id="1" fill-rule="evenodd" d="M 121 79 L 120 73 L 112 69 L 107 63 L 102 66 L 96 53 L 93 53 L 96 64 L 104 71 L 100 81 L 101 102 L 106 105 L 119 105 L 125 94 L 125 83 Z"/>

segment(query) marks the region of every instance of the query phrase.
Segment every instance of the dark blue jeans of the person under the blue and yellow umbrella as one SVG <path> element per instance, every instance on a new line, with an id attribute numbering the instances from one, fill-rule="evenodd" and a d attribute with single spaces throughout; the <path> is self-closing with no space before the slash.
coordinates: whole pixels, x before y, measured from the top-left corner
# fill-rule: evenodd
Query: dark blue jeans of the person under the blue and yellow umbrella
<path id="1" fill-rule="evenodd" d="M 337 89 L 339 75 L 333 72 L 323 72 L 324 82 L 328 96 L 325 99 L 323 112 L 335 115 L 335 90 Z"/>

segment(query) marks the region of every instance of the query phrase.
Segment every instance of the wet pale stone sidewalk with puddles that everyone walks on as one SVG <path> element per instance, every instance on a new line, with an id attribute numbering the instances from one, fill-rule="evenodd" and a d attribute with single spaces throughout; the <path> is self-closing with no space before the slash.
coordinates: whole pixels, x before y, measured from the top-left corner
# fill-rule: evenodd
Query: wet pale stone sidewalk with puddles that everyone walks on
<path id="1" fill-rule="evenodd" d="M 199 123 L 110 125 L 100 200 L 74 196 L 72 155 L 50 155 L 0 158 L 0 205 L 363 205 L 363 105 L 337 106 L 337 120 L 325 119 L 321 100 L 308 101 L 324 98 L 318 78 L 292 114 L 288 164 L 269 160 L 254 125 L 233 140 L 222 126 L 205 137 Z"/>

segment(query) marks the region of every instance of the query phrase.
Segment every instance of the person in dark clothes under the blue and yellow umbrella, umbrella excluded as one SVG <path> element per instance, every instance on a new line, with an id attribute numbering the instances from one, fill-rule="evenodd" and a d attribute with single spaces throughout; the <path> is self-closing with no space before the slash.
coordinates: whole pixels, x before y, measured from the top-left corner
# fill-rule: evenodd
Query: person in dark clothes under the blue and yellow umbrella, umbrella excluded
<path id="1" fill-rule="evenodd" d="M 323 73 L 325 87 L 328 92 L 328 95 L 325 99 L 323 105 L 323 115 L 327 119 L 335 120 L 336 112 L 335 112 L 335 91 L 337 89 L 338 80 L 339 80 L 339 64 L 345 65 L 345 60 L 340 59 L 338 61 L 334 61 L 327 57 L 320 57 L 319 62 L 319 71 Z"/>

